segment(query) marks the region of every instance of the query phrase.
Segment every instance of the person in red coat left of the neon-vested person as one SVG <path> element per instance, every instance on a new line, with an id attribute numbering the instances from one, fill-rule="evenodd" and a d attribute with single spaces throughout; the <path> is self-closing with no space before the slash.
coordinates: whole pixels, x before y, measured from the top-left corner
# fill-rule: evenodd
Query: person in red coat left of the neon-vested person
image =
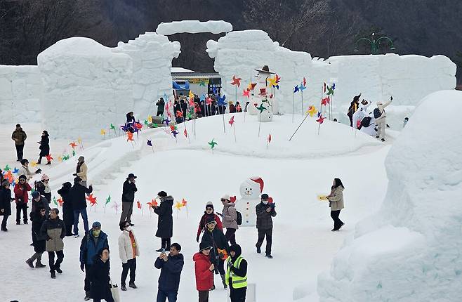
<path id="1" fill-rule="evenodd" d="M 206 242 L 199 244 L 199 253 L 192 256 L 195 262 L 196 288 L 199 291 L 199 302 L 209 302 L 209 290 L 213 287 L 213 270 L 215 266 L 210 262 L 209 254 L 212 247 Z"/>

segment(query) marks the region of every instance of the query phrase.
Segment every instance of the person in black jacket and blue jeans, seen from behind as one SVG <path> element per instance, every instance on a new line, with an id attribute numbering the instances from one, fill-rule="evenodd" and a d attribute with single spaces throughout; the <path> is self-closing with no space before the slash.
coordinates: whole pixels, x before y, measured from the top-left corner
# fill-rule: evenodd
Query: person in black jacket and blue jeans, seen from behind
<path id="1" fill-rule="evenodd" d="M 74 178 L 74 185 L 69 190 L 69 197 L 74 211 L 74 235 L 79 237 L 79 216 L 84 220 L 85 235 L 88 233 L 88 215 L 86 214 L 86 194 L 93 192 L 91 185 L 88 188 L 81 185 L 81 178 Z"/>

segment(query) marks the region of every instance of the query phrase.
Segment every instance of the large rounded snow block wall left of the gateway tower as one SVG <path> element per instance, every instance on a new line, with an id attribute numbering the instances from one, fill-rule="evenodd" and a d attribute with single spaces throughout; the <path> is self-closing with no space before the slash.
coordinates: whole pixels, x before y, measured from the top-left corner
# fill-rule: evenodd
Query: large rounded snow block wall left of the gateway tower
<path id="1" fill-rule="evenodd" d="M 133 109 L 132 60 L 92 39 L 56 42 L 37 57 L 44 129 L 60 138 L 100 138 Z"/>

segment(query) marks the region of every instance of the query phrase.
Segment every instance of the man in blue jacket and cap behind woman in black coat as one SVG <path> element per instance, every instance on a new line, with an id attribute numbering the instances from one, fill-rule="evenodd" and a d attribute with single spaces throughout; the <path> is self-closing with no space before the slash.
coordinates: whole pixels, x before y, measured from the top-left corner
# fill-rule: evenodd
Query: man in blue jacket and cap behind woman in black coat
<path id="1" fill-rule="evenodd" d="M 107 235 L 101 230 L 101 223 L 95 221 L 80 244 L 80 269 L 85 272 L 85 301 L 90 300 L 91 276 L 95 256 L 103 248 L 109 249 Z"/>

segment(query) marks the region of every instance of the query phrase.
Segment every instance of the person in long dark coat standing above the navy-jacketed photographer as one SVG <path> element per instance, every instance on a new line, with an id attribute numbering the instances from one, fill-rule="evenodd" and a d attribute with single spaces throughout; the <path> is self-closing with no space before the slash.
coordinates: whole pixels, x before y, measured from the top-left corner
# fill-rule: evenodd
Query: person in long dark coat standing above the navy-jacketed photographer
<path id="1" fill-rule="evenodd" d="M 162 239 L 161 247 L 157 249 L 161 251 L 170 248 L 170 240 L 173 237 L 173 197 L 167 196 L 164 191 L 157 193 L 157 196 L 160 198 L 160 206 L 153 206 L 153 208 L 154 213 L 159 215 L 156 237 Z"/>

